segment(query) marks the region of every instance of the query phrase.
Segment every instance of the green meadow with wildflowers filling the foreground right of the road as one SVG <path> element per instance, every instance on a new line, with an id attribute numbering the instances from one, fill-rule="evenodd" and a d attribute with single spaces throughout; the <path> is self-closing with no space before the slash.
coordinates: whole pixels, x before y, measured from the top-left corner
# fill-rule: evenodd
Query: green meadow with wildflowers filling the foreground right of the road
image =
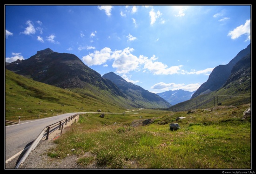
<path id="1" fill-rule="evenodd" d="M 241 120 L 248 107 L 196 109 L 192 114 L 142 109 L 104 118 L 80 114 L 49 154 L 77 155 L 77 163 L 85 168 L 94 163 L 106 168 L 249 169 L 251 124 Z M 186 118 L 175 121 L 180 116 Z M 153 122 L 132 126 L 145 119 Z M 181 129 L 170 131 L 169 123 Z"/>

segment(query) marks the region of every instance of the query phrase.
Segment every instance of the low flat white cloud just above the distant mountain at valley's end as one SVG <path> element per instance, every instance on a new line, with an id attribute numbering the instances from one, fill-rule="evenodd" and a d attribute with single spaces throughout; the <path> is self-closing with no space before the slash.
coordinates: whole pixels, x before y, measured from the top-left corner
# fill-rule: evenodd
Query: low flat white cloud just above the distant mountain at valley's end
<path id="1" fill-rule="evenodd" d="M 184 91 L 196 91 L 200 86 L 202 85 L 202 83 L 191 83 L 188 85 L 185 85 L 184 83 L 182 84 L 175 84 L 175 83 L 156 83 L 155 85 L 153 85 L 151 88 L 152 89 L 161 89 L 162 91 L 175 91 L 178 89 L 182 89 Z"/>

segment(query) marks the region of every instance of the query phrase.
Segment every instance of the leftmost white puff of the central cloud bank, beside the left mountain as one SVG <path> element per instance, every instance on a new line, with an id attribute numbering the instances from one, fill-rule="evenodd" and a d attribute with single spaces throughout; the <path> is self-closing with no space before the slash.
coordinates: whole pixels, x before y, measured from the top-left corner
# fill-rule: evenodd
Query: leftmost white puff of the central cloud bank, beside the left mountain
<path id="1" fill-rule="evenodd" d="M 112 59 L 110 57 L 110 54 L 111 49 L 105 47 L 101 49 L 101 51 L 94 51 L 94 53 L 90 53 L 89 55 L 83 56 L 81 60 L 88 66 L 101 65 L 103 63 L 106 63 L 107 60 Z"/>

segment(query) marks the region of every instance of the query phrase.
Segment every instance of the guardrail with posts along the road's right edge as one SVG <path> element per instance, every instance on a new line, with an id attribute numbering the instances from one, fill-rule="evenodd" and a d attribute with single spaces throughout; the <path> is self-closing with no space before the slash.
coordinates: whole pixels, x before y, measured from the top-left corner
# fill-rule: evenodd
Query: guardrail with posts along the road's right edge
<path id="1" fill-rule="evenodd" d="M 76 116 L 79 116 L 79 114 L 71 115 L 71 116 L 69 116 L 68 118 L 66 118 L 64 120 L 61 120 L 59 122 L 56 122 L 56 123 L 54 123 L 52 125 L 49 125 L 49 126 L 45 127 L 42 130 L 42 132 L 37 136 L 37 138 L 33 141 L 33 143 L 29 146 L 29 148 L 27 149 L 26 153 L 22 156 L 22 158 L 20 159 L 19 163 L 16 165 L 15 168 L 19 168 L 20 167 L 20 164 L 22 164 L 27 159 L 27 156 L 30 154 L 30 152 L 35 149 L 35 147 L 38 145 L 38 143 L 44 137 L 46 137 L 46 139 L 48 140 L 49 134 L 53 133 L 58 128 L 61 129 L 61 133 L 62 133 L 62 128 L 63 128 L 64 124 L 67 125 L 67 122 L 69 122 L 70 120 L 74 119 Z"/>

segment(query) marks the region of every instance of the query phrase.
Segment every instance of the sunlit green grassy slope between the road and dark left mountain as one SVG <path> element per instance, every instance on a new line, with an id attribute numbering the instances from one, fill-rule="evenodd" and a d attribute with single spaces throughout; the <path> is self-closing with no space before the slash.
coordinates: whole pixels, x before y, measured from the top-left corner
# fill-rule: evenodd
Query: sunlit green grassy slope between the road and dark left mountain
<path id="1" fill-rule="evenodd" d="M 84 90 L 84 94 L 27 79 L 9 70 L 5 74 L 5 119 L 33 120 L 70 112 L 124 112 L 124 99 L 108 98 L 106 91 Z M 118 105 L 120 101 L 121 106 Z"/>

